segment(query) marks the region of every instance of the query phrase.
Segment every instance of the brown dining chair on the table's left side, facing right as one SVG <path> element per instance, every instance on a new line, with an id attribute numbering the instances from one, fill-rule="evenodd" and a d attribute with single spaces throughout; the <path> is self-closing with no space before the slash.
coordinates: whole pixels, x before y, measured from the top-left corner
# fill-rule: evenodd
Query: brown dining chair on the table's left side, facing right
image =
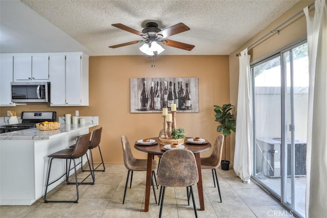
<path id="1" fill-rule="evenodd" d="M 128 185 L 128 180 L 129 180 L 129 175 L 131 173 L 131 181 L 130 181 L 130 186 L 129 188 L 132 187 L 132 179 L 133 179 L 133 172 L 134 171 L 147 171 L 147 159 L 137 159 L 133 156 L 131 147 L 128 141 L 128 138 L 125 135 L 122 135 L 121 137 L 122 141 L 122 147 L 123 147 L 123 154 L 124 154 L 124 165 L 128 169 L 127 173 L 127 179 L 126 179 L 126 184 L 125 184 L 125 190 L 124 190 L 124 198 L 123 198 L 123 204 L 125 203 L 125 197 L 126 197 L 126 191 L 127 191 L 127 185 Z M 156 160 L 152 160 L 152 177 L 151 177 L 151 184 L 153 188 L 153 193 L 154 193 L 154 199 L 155 203 L 157 204 L 157 197 L 153 185 L 153 177 L 155 177 L 155 169 L 157 168 L 158 163 Z"/>

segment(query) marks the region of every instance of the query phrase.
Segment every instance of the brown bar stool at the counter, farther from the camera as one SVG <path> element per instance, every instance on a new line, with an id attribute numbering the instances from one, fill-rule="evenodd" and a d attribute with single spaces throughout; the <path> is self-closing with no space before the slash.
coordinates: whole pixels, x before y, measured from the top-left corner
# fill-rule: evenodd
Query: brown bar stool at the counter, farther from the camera
<path id="1" fill-rule="evenodd" d="M 101 153 L 101 149 L 100 149 L 100 141 L 101 141 L 101 133 L 102 133 L 102 127 L 99 128 L 99 129 L 96 129 L 93 131 L 92 133 L 92 138 L 91 140 L 89 141 L 89 144 L 88 144 L 88 150 L 90 151 L 90 161 L 91 161 L 91 166 L 92 168 L 90 169 L 83 169 L 83 164 L 82 164 L 82 171 L 91 171 L 93 173 L 93 176 L 94 176 L 94 181 L 96 181 L 96 176 L 95 176 L 95 171 L 102 171 L 102 172 L 105 172 L 105 166 L 104 166 L 104 162 L 103 162 L 103 158 L 102 158 L 102 153 Z M 70 146 L 69 148 L 74 148 L 75 147 L 75 144 L 73 144 L 72 146 Z M 93 161 L 93 155 L 92 155 L 92 150 L 95 149 L 95 148 L 99 148 L 99 153 L 100 153 L 100 157 L 101 157 L 101 163 L 95 168 L 94 167 L 94 161 Z M 83 157 L 81 158 L 81 163 L 83 162 Z M 99 166 L 103 166 L 103 169 L 98 169 L 97 168 Z"/>

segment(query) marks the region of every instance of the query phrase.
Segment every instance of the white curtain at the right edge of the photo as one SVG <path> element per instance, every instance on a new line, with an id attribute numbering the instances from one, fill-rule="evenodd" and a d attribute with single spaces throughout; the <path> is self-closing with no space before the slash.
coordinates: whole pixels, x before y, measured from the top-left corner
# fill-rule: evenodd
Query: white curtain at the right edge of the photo
<path id="1" fill-rule="evenodd" d="M 309 114 L 307 142 L 306 216 L 327 214 L 327 9 L 325 0 L 315 1 L 307 17 L 309 52 Z"/>

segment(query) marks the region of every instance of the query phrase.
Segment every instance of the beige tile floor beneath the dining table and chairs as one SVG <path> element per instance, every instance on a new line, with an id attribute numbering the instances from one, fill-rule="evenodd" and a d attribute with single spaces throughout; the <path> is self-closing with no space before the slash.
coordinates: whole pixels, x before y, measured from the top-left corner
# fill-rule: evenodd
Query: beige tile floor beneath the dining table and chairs
<path id="1" fill-rule="evenodd" d="M 232 169 L 218 169 L 222 203 L 214 187 L 212 172 L 202 170 L 205 210 L 198 217 L 290 217 L 291 214 L 254 182 L 243 184 Z M 86 172 L 80 172 L 83 178 Z M 32 206 L 0 206 L 0 217 L 158 217 L 160 207 L 151 192 L 149 212 L 144 212 L 145 172 L 134 172 L 132 188 L 122 204 L 127 169 L 124 164 L 106 164 L 106 172 L 96 172 L 95 185 L 80 185 L 80 199 L 74 203 L 43 203 Z M 157 191 L 157 198 L 159 190 Z M 197 207 L 197 188 L 194 186 Z M 49 199 L 74 199 L 74 185 L 62 183 L 49 193 Z M 187 205 L 186 188 L 167 188 L 162 217 L 195 217 Z"/>

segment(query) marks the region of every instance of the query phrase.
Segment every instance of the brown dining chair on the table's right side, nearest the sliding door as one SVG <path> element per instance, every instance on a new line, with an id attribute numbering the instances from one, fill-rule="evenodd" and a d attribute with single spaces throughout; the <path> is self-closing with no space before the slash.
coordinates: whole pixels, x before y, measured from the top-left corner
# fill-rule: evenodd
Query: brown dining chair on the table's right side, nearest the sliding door
<path id="1" fill-rule="evenodd" d="M 219 134 L 215 141 L 213 153 L 209 157 L 201 158 L 201 169 L 211 169 L 212 170 L 215 187 L 216 187 L 215 179 L 217 181 L 220 202 L 222 202 L 222 201 L 221 201 L 221 194 L 220 194 L 220 188 L 219 188 L 219 182 L 218 182 L 216 168 L 218 168 L 220 166 L 221 155 L 223 152 L 223 144 L 224 144 L 224 135 Z"/>

